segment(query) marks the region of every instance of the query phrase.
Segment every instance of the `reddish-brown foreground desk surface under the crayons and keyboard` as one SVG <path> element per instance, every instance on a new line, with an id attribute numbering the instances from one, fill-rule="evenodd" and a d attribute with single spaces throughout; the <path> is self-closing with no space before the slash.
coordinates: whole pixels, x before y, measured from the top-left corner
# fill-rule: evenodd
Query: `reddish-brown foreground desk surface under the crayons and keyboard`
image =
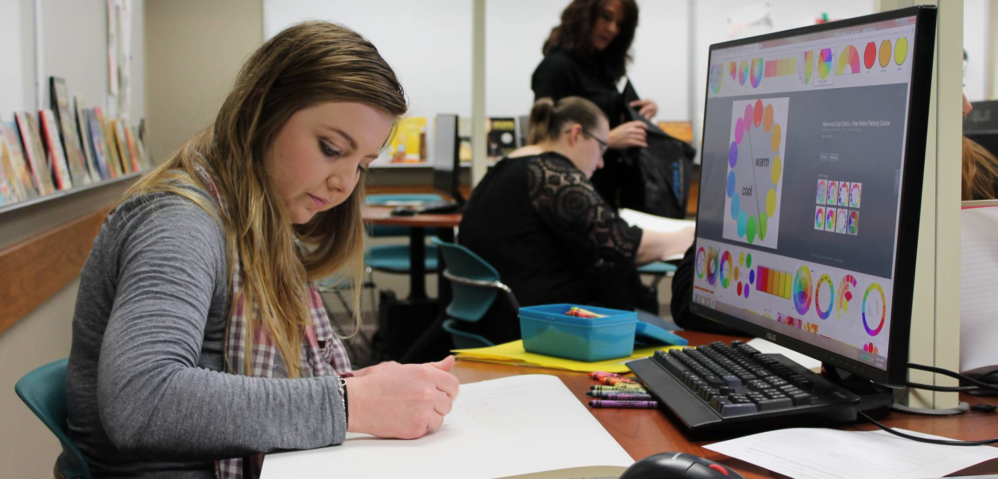
<path id="1" fill-rule="evenodd" d="M 716 340 L 730 341 L 732 339 L 740 339 L 735 336 L 723 336 L 703 332 L 681 331 L 680 333 L 690 339 L 690 344 L 707 344 Z M 467 360 L 458 361 L 452 372 L 457 375 L 461 382 L 475 382 L 517 374 L 552 374 L 560 377 L 583 404 L 592 399 L 586 396 L 586 391 L 589 390 L 589 386 L 596 383 L 581 372 L 528 366 L 507 366 Z M 998 405 L 998 398 L 995 397 L 962 395 L 961 400 L 968 401 L 971 404 L 988 403 Z M 588 408 L 589 406 L 586 407 Z M 668 411 L 591 408 L 589 410 L 635 460 L 659 452 L 682 451 L 725 464 L 742 473 L 747 479 L 786 477 L 703 447 L 714 442 L 739 437 L 745 433 L 735 432 L 728 435 L 711 437 L 710 440 L 697 439 L 691 438 L 685 426 L 678 419 L 671 416 L 671 413 Z M 920 416 L 892 412 L 886 419 L 880 422 L 891 427 L 900 427 L 961 440 L 998 437 L 998 412 L 981 413 L 968 411 L 955 416 Z M 857 431 L 874 430 L 876 426 L 867 423 L 844 426 L 843 429 Z M 998 460 L 983 462 L 959 471 L 955 475 L 985 474 L 998 474 Z"/>

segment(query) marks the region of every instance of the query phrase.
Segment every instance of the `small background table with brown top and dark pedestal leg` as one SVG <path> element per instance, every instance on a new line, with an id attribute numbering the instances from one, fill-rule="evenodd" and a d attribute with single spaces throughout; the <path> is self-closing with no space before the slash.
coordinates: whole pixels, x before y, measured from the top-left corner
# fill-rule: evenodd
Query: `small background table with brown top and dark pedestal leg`
<path id="1" fill-rule="evenodd" d="M 423 243 L 426 240 L 426 229 L 439 229 L 438 236 L 441 240 L 453 241 L 454 227 L 461 224 L 461 214 L 393 217 L 392 210 L 394 207 L 366 206 L 363 207 L 361 218 L 373 225 L 409 228 L 409 299 L 424 299 L 426 298 L 426 248 Z"/>

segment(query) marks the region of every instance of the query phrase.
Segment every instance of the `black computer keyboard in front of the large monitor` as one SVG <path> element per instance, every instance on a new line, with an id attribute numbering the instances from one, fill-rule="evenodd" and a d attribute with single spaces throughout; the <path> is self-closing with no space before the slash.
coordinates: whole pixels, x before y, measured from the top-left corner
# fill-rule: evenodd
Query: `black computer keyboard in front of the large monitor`
<path id="1" fill-rule="evenodd" d="M 798 416 L 851 421 L 859 405 L 854 393 L 743 341 L 656 351 L 627 365 L 691 430 Z"/>

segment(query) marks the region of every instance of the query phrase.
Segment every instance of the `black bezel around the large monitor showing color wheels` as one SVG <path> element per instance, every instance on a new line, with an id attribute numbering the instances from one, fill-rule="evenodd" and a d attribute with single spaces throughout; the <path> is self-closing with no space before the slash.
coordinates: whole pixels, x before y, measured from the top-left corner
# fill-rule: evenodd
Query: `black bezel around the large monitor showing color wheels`
<path id="1" fill-rule="evenodd" d="M 933 57 L 935 55 L 935 26 L 937 11 L 935 6 L 915 6 L 889 12 L 875 13 L 847 20 L 823 23 L 782 32 L 759 35 L 740 40 L 733 40 L 724 43 L 711 45 L 710 54 L 715 51 L 731 47 L 737 47 L 750 43 L 759 43 L 778 38 L 793 37 L 798 35 L 812 34 L 827 30 L 837 30 L 848 28 L 854 25 L 881 22 L 894 18 L 915 17 L 914 48 L 912 49 L 911 65 L 911 90 L 910 103 L 907 118 L 907 134 L 904 149 L 904 175 L 901 182 L 901 209 L 898 215 L 897 232 L 897 260 L 894 263 L 894 287 L 891 294 L 892 315 L 889 344 L 887 350 L 887 368 L 878 369 L 869 364 L 843 355 L 830 352 L 826 349 L 808 344 L 802 340 L 784 335 L 778 331 L 767 329 L 755 325 L 747 320 L 740 319 L 731 314 L 712 309 L 706 305 L 699 304 L 691 300 L 690 310 L 695 314 L 719 322 L 721 324 L 743 330 L 749 334 L 763 337 L 776 344 L 788 347 L 800 353 L 811 356 L 822 361 L 826 365 L 833 365 L 844 370 L 859 374 L 870 380 L 888 385 L 891 387 L 904 387 L 907 378 L 908 343 L 911 333 L 911 310 L 910 300 L 899 301 L 899 298 L 911 298 L 914 292 L 915 259 L 918 248 L 918 228 L 921 216 L 920 208 L 905 208 L 905 205 L 921 205 L 922 181 L 925 167 L 925 146 L 928 132 L 929 98 L 932 88 L 932 68 Z M 928 45 L 928 48 L 926 48 Z M 710 68 L 711 61 L 708 57 L 708 82 L 705 89 L 704 117 L 707 116 L 707 100 L 710 98 Z M 701 151 L 704 151 L 703 135 L 701 138 Z M 701 181 L 704 178 L 704 169 L 701 169 Z M 700 190 L 703 197 L 707 192 Z M 703 198 L 699 199 L 703 202 Z M 700 218 L 698 214 L 698 228 Z M 699 238 L 699 234 L 697 236 Z M 691 299 L 693 292 L 691 292 Z M 907 320 L 898 320 L 907 318 Z"/>

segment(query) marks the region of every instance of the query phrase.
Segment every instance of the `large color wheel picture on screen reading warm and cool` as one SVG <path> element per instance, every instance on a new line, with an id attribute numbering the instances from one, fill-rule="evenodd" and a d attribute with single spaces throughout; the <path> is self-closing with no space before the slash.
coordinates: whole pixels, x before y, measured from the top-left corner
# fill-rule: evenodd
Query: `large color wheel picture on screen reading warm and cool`
<path id="1" fill-rule="evenodd" d="M 726 240 L 776 247 L 788 98 L 732 104 L 725 187 Z"/>

